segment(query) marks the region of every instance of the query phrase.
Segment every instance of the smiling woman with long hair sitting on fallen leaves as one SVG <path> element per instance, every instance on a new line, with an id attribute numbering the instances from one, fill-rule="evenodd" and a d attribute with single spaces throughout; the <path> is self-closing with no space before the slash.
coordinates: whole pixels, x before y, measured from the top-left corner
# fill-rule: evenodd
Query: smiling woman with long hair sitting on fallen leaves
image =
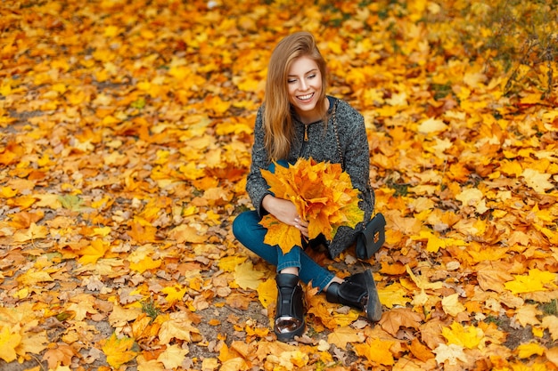
<path id="1" fill-rule="evenodd" d="M 303 246 L 295 246 L 283 254 L 280 247 L 265 244 L 267 230 L 258 224 L 263 215 L 272 214 L 308 238 L 308 221 L 300 218 L 291 201 L 275 198 L 260 172 L 261 169 L 273 171 L 274 161 L 294 164 L 300 157 L 341 163 L 353 187 L 360 190 L 358 204 L 365 212 L 365 220 L 355 229 L 341 227 L 331 242 L 322 238 L 333 258 L 355 242 L 363 223 L 370 220 L 373 192 L 369 185 L 370 155 L 364 118 L 348 103 L 326 96 L 325 73 L 325 60 L 308 32 L 287 36 L 275 46 L 268 66 L 265 101 L 256 118 L 246 184 L 256 210 L 238 215 L 233 224 L 234 236 L 243 246 L 277 267 L 274 330 L 281 341 L 290 341 L 304 332 L 300 280 L 306 284 L 312 282 L 312 286 L 326 294 L 329 302 L 365 311 L 366 317 L 373 321 L 382 316 L 370 270 L 347 279 L 336 277 L 312 260 Z M 309 241 L 308 245 L 319 242 Z"/>

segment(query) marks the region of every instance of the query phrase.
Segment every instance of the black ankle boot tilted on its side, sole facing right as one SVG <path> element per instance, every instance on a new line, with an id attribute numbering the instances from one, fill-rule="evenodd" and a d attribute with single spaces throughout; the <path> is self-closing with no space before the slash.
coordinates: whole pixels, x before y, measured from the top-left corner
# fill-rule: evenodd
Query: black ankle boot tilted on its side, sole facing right
<path id="1" fill-rule="evenodd" d="M 332 282 L 325 297 L 328 302 L 337 302 L 364 311 L 366 318 L 371 321 L 382 318 L 382 304 L 370 270 L 354 274 L 342 284 Z"/>

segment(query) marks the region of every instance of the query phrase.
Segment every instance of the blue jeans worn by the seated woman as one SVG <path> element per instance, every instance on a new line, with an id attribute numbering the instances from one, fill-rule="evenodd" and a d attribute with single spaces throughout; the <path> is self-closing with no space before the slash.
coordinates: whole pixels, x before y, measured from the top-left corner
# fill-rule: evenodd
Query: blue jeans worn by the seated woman
<path id="1" fill-rule="evenodd" d="M 277 161 L 279 165 L 288 166 L 286 161 Z M 275 165 L 269 166 L 269 171 L 275 173 Z M 327 286 L 334 275 L 320 264 L 315 262 L 300 246 L 292 247 L 291 251 L 283 254 L 279 246 L 270 246 L 264 243 L 267 229 L 259 224 L 261 218 L 255 210 L 238 215 L 233 222 L 233 234 L 243 246 L 277 267 L 277 271 L 285 268 L 296 267 L 302 282 L 318 287 L 320 291 Z"/>

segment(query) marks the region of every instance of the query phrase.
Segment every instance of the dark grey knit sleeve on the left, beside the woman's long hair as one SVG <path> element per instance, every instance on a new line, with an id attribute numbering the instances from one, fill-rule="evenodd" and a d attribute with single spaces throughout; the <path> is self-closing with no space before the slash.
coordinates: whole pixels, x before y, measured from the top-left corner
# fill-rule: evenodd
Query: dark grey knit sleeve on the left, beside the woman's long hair
<path id="1" fill-rule="evenodd" d="M 252 205 L 258 211 L 259 216 L 267 214 L 262 206 L 262 200 L 268 194 L 271 194 L 267 181 L 261 175 L 261 169 L 267 169 L 270 165 L 267 149 L 264 146 L 264 128 L 263 128 L 263 109 L 258 109 L 256 123 L 254 125 L 254 145 L 252 146 L 252 159 L 250 165 L 250 173 L 246 179 L 246 191 L 250 196 Z"/>

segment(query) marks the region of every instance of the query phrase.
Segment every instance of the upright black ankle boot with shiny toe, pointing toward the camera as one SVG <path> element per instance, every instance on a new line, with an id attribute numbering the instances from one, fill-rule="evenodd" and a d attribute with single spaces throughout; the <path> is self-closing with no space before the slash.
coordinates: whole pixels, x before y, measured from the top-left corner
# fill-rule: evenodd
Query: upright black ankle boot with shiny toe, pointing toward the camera
<path id="1" fill-rule="evenodd" d="M 275 335 L 282 342 L 294 339 L 304 332 L 304 302 L 299 276 L 277 273 L 277 310 L 275 312 Z"/>

